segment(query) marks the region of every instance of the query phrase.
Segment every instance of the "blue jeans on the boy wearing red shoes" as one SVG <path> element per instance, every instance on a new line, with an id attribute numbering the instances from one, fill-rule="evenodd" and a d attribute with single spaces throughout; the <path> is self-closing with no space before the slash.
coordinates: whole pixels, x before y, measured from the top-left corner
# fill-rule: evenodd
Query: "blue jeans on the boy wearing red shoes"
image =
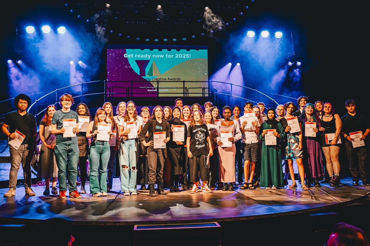
<path id="1" fill-rule="evenodd" d="M 54 149 L 58 166 L 59 190 L 67 191 L 66 171 L 68 164 L 68 189 L 75 191 L 77 181 L 77 164 L 80 150 L 77 143 L 57 143 Z"/>

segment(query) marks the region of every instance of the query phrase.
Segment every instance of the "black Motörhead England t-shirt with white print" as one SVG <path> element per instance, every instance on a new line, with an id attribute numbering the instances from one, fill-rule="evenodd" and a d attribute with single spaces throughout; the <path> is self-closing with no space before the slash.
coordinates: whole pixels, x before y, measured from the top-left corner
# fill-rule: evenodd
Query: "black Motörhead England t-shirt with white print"
<path id="1" fill-rule="evenodd" d="M 206 124 L 189 126 L 188 137 L 190 137 L 190 151 L 193 156 L 208 154 L 207 137 L 209 136 Z"/>

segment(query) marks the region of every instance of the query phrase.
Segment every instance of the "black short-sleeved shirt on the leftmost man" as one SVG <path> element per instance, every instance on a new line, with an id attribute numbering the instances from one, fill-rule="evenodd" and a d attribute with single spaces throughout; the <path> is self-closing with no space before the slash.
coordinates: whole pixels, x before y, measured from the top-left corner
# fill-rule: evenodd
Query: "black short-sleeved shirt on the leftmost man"
<path id="1" fill-rule="evenodd" d="M 14 133 L 16 130 L 26 136 L 22 144 L 33 144 L 33 134 L 36 134 L 36 119 L 35 116 L 26 113 L 20 115 L 18 110 L 10 112 L 5 116 L 4 124 L 9 126 L 9 133 Z"/>

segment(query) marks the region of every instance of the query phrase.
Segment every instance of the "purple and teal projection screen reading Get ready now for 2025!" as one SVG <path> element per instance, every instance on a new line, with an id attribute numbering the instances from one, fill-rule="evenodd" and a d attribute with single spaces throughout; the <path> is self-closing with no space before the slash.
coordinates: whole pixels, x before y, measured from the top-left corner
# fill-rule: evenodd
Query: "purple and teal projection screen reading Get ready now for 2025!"
<path id="1" fill-rule="evenodd" d="M 160 96 L 182 96 L 184 81 L 192 88 L 189 96 L 208 93 L 206 46 L 107 46 L 107 92 L 112 96 L 157 96 L 157 86 Z"/>

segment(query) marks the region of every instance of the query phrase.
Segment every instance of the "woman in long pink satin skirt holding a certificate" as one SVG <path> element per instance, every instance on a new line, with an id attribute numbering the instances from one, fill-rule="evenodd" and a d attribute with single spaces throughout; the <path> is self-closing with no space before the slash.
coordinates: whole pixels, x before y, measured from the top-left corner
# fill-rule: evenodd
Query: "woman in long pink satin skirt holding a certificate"
<path id="1" fill-rule="evenodd" d="M 242 138 L 242 133 L 238 121 L 230 118 L 231 107 L 223 106 L 222 115 L 225 119 L 217 122 L 215 135 L 218 144 L 219 180 L 223 182 L 223 191 L 233 191 L 232 183 L 236 181 L 234 142 Z"/>

